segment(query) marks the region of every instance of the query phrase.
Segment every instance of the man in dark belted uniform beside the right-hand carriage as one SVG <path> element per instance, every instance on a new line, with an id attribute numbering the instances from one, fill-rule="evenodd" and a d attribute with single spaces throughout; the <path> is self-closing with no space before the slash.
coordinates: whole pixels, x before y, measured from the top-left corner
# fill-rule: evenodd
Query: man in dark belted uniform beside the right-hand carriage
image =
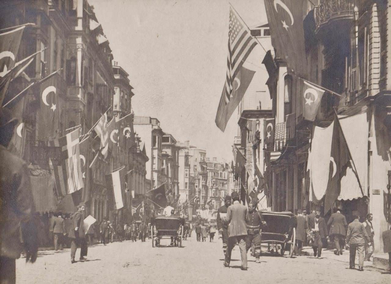
<path id="1" fill-rule="evenodd" d="M 247 237 L 246 237 L 246 251 L 251 248 L 251 245 L 254 242 L 254 256 L 255 262 L 260 263 L 259 256 L 261 254 L 261 228 L 266 225 L 264 218 L 256 210 L 257 200 L 253 199 L 248 205 L 248 213 L 246 216 L 246 227 L 247 227 Z"/>

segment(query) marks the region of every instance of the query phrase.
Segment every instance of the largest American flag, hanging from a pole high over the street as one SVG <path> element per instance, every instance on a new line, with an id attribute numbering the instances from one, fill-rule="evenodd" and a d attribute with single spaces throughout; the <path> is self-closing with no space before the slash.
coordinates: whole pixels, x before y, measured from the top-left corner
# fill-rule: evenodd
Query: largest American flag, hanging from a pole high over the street
<path id="1" fill-rule="evenodd" d="M 228 32 L 228 59 L 227 78 L 225 83 L 226 103 L 231 99 L 233 81 L 246 61 L 256 40 L 251 36 L 246 24 L 240 16 L 230 7 L 230 24 Z"/>

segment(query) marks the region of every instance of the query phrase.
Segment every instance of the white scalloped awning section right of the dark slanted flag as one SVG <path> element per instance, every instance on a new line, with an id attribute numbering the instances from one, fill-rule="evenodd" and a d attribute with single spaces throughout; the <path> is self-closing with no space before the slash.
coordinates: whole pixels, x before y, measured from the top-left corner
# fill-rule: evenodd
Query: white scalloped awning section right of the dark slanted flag
<path id="1" fill-rule="evenodd" d="M 348 144 L 352 160 L 357 170 L 357 176 L 353 170 L 348 167 L 346 175 L 341 179 L 341 192 L 338 200 L 352 200 L 367 196 L 368 180 L 368 122 L 367 113 L 361 113 L 350 117 L 341 117 L 339 119 L 341 128 Z M 353 167 L 354 169 L 354 167 Z"/>

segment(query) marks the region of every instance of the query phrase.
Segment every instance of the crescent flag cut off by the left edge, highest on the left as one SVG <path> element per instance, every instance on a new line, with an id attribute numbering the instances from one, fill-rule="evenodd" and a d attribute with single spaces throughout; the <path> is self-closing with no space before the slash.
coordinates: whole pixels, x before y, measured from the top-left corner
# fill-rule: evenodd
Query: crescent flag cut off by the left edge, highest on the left
<path id="1" fill-rule="evenodd" d="M 25 26 L 0 34 L 0 78 L 15 65 Z"/>

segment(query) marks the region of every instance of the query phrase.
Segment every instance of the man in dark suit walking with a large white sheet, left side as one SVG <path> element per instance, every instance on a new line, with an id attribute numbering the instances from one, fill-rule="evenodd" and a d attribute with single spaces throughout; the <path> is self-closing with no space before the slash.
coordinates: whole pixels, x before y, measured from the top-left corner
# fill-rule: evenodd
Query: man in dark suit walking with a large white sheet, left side
<path id="1" fill-rule="evenodd" d="M 75 263 L 75 255 L 77 247 L 80 246 L 80 258 L 79 260 L 85 260 L 84 256 L 87 255 L 87 242 L 86 232 L 84 232 L 84 210 L 86 205 L 81 202 L 77 206 L 76 212 L 72 215 L 72 227 L 69 231 L 69 238 L 71 239 L 71 263 Z"/>

